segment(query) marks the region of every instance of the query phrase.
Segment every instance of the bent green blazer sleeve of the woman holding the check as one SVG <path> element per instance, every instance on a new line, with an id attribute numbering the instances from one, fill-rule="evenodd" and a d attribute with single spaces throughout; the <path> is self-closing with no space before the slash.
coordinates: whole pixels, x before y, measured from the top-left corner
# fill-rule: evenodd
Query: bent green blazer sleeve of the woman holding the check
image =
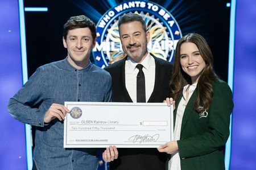
<path id="1" fill-rule="evenodd" d="M 180 157 L 205 155 L 223 146 L 229 137 L 230 114 L 233 109 L 232 92 L 224 82 L 213 86 L 213 98 L 208 111 L 208 129 L 201 135 L 177 141 Z"/>

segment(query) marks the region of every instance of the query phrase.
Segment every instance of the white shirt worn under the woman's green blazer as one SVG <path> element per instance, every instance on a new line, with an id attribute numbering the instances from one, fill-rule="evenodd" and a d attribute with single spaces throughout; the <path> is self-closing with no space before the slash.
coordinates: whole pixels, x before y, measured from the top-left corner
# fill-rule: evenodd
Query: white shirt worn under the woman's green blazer
<path id="1" fill-rule="evenodd" d="M 183 88 L 183 97 L 180 99 L 179 106 L 177 107 L 177 114 L 175 120 L 175 127 L 174 127 L 174 140 L 180 140 L 180 131 L 181 131 L 181 123 L 185 108 L 187 106 L 187 102 L 189 101 L 190 97 L 192 96 L 193 92 L 196 89 L 197 82 L 192 85 L 185 85 Z M 186 102 L 186 90 L 188 89 L 188 99 Z M 169 160 L 168 170 L 181 170 L 180 168 L 180 154 L 179 151 L 174 152 L 171 155 L 171 159 Z"/>

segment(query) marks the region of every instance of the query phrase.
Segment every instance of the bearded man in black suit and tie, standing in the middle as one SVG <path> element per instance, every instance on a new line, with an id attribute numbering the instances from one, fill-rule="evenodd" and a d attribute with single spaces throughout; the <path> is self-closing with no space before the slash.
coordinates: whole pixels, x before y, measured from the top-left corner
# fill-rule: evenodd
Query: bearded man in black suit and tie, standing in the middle
<path id="1" fill-rule="evenodd" d="M 112 76 L 113 102 L 163 102 L 170 96 L 172 64 L 147 51 L 150 32 L 141 15 L 125 14 L 118 21 L 119 35 L 125 59 L 106 67 Z M 141 64 L 139 68 L 138 64 Z M 143 73 L 142 73 L 143 72 Z M 141 75 L 143 74 L 143 76 Z M 143 77 L 143 90 L 138 90 L 138 78 Z M 140 91 L 141 94 L 137 94 Z M 157 113 L 156 113 L 157 114 Z M 166 155 L 156 148 L 106 148 L 102 157 L 110 169 L 164 169 Z"/>

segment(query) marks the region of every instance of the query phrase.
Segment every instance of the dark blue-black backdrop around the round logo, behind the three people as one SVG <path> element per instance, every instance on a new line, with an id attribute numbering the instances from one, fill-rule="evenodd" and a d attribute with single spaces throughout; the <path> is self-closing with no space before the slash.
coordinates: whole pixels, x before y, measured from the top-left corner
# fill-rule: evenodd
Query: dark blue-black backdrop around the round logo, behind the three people
<path id="1" fill-rule="evenodd" d="M 117 4 L 124 1 L 112 1 Z M 230 7 L 227 0 L 151 1 L 166 8 L 180 26 L 182 35 L 196 32 L 204 36 L 212 49 L 214 69 L 228 80 Z M 25 0 L 25 7 L 48 7 L 48 12 L 25 12 L 28 77 L 41 65 L 67 56 L 63 47 L 63 24 L 70 16 L 87 15 L 96 24 L 113 6 L 108 1 Z M 95 13 L 92 13 L 92 10 Z M 93 57 L 91 56 L 91 61 Z"/>

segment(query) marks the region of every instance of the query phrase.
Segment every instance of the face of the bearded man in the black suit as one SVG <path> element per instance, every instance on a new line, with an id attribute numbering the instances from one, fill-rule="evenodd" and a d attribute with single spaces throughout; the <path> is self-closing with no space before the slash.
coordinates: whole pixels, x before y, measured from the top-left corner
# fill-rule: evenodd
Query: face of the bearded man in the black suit
<path id="1" fill-rule="evenodd" d="M 121 24 L 119 27 L 123 52 L 137 63 L 141 63 L 147 56 L 147 43 L 150 33 L 145 32 L 138 21 Z"/>

